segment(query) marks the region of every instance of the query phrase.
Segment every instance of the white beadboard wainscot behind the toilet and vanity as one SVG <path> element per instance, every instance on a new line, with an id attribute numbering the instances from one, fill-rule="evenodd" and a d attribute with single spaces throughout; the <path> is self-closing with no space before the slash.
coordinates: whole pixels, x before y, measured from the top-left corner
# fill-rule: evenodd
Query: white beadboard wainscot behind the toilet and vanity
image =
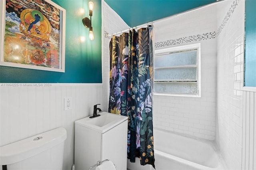
<path id="1" fill-rule="evenodd" d="M 0 146 L 64 127 L 67 139 L 63 169 L 69 170 L 74 163 L 74 121 L 92 115 L 93 105 L 102 103 L 102 84 L 56 83 L 50 84 L 50 87 L 28 83 L 19 83 L 19 87 L 1 85 Z M 71 110 L 64 111 L 64 97 L 72 98 Z"/>

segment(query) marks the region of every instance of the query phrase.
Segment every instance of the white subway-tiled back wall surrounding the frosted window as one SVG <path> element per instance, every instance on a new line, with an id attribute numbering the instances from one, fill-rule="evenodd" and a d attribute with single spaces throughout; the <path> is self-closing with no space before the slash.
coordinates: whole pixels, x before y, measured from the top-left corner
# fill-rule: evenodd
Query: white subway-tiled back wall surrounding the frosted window
<path id="1" fill-rule="evenodd" d="M 215 139 L 216 6 L 154 23 L 155 49 L 201 43 L 201 97 L 154 95 L 154 127 Z"/>

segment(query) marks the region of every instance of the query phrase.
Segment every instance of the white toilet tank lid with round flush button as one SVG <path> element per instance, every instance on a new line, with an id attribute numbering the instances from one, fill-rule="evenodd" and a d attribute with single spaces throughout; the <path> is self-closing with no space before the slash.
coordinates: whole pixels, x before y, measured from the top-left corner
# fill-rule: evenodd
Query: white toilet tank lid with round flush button
<path id="1" fill-rule="evenodd" d="M 1 146 L 0 165 L 13 164 L 30 158 L 31 156 L 39 154 L 60 144 L 66 140 L 66 138 L 66 129 L 60 127 L 11 144 L 7 144 L 5 146 Z"/>

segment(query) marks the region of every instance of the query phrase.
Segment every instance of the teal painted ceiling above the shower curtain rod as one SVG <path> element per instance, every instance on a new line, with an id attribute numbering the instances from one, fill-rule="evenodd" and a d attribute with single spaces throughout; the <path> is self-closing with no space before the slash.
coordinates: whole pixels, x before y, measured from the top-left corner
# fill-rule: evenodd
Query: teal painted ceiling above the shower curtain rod
<path id="1" fill-rule="evenodd" d="M 139 26 L 216 0 L 104 0 L 130 27 Z M 120 3 L 122 1 L 122 3 Z M 135 12 L 136 11 L 136 12 Z"/>

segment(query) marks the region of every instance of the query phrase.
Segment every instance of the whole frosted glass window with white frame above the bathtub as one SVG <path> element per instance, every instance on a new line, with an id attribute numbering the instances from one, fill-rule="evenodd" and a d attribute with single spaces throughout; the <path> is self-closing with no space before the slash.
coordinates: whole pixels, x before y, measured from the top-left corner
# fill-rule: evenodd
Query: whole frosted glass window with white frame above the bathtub
<path id="1" fill-rule="evenodd" d="M 200 43 L 156 50 L 154 93 L 200 96 L 199 59 Z"/>

